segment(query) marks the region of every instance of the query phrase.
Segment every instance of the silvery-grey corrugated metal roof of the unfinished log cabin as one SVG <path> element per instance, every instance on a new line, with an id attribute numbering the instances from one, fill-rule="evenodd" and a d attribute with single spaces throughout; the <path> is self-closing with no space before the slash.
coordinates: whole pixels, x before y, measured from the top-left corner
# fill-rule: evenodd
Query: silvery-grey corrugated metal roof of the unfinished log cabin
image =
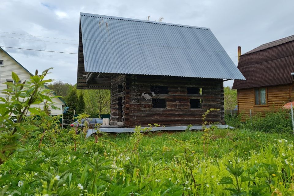
<path id="1" fill-rule="evenodd" d="M 209 28 L 81 13 L 85 72 L 245 79 Z"/>

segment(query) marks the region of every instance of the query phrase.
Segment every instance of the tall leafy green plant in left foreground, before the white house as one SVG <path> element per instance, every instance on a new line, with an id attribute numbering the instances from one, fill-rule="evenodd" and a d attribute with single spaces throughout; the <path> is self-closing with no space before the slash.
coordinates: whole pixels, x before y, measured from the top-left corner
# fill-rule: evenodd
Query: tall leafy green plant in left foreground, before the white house
<path id="1" fill-rule="evenodd" d="M 49 70 L 40 75 L 36 70 L 35 75 L 23 83 L 19 83 L 19 77 L 12 72 L 15 83 L 5 83 L 8 86 L 2 92 L 5 98 L 0 97 L 0 165 L 15 152 L 20 141 L 25 141 L 23 136 L 36 129 L 36 126 L 23 123 L 28 112 L 38 114 L 40 111 L 31 106 L 42 102 L 52 103 L 51 90 L 45 88 L 45 84 L 52 80 L 44 79 Z M 51 105 L 51 108 L 54 106 Z M 12 121 L 14 118 L 16 123 Z"/>

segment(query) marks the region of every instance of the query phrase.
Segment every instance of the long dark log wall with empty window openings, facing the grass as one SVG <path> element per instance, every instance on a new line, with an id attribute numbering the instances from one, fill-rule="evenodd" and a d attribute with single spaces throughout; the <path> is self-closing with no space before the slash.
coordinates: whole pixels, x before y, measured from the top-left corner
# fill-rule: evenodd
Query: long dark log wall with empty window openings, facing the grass
<path id="1" fill-rule="evenodd" d="M 142 75 L 126 75 L 123 78 L 120 76 L 113 83 L 118 84 L 117 81 L 124 81 L 122 121 L 125 126 L 147 126 L 153 123 L 165 126 L 200 125 L 202 115 L 210 108 L 220 110 L 211 112 L 206 120 L 213 123 L 225 123 L 224 91 L 221 79 Z M 190 87 L 202 89 L 202 94 L 197 91 L 192 91 L 195 94 L 191 94 L 191 91 L 189 93 L 187 88 Z M 116 89 L 115 85 L 111 86 L 111 90 L 113 89 Z M 167 89 L 168 93 L 162 94 Z M 111 100 L 113 107 L 116 106 L 116 97 L 115 93 L 111 93 L 111 99 L 114 99 Z M 202 103 L 190 104 L 190 99 L 201 100 Z M 192 105 L 199 108 L 191 109 Z M 153 108 L 162 106 L 165 108 Z M 115 113 L 119 110 L 116 108 L 113 110 L 113 107 L 111 108 L 111 122 L 114 124 L 120 119 L 117 119 L 119 115 Z M 120 106 L 117 105 L 117 107 Z"/>

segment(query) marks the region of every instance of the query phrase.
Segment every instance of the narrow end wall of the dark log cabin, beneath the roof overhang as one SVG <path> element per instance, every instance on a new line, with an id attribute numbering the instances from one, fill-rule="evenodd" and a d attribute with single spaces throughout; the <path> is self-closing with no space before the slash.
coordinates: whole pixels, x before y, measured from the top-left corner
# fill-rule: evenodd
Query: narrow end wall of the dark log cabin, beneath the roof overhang
<path id="1" fill-rule="evenodd" d="M 117 75 L 111 79 L 110 125 L 123 126 L 126 75 Z"/>

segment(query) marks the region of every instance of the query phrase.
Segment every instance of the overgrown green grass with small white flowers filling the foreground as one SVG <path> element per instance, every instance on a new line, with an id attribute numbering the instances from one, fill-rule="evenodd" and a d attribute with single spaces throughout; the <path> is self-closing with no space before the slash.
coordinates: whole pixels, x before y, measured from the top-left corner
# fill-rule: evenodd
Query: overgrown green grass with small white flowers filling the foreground
<path id="1" fill-rule="evenodd" d="M 13 190 L 58 195 L 293 195 L 293 139 L 287 133 L 238 129 L 86 139 L 60 130 L 44 136 L 39 152 L 40 138 L 23 142 L 22 150 L 1 165 L 0 185 L 7 185 L 3 195 Z M 270 185 L 259 175 L 266 173 L 263 164 L 276 170 Z M 236 185 L 230 165 L 243 167 L 242 175 L 251 179 L 241 183 L 238 193 L 224 190 Z M 9 178 L 3 181 L 5 176 Z M 224 183 L 224 177 L 233 184 Z M 264 188 L 256 191 L 258 186 Z"/>

